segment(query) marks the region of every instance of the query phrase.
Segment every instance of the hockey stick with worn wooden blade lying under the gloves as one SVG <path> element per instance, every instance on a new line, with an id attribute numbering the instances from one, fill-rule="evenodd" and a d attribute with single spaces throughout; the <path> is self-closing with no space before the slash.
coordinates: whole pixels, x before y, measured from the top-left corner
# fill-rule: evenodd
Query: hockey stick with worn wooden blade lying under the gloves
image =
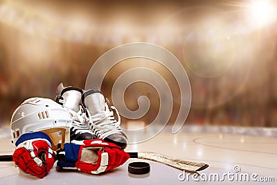
<path id="1" fill-rule="evenodd" d="M 197 172 L 208 168 L 208 164 L 185 161 L 183 159 L 176 159 L 154 152 L 128 152 L 128 154 L 130 155 L 130 158 L 157 161 L 161 164 L 166 164 L 173 168 L 190 172 Z M 12 161 L 12 155 L 0 155 L 0 161 Z"/>

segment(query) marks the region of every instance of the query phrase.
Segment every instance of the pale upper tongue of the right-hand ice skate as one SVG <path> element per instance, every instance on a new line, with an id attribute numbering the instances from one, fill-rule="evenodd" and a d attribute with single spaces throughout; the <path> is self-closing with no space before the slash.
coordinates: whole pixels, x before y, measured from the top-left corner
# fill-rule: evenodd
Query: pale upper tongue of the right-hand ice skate
<path id="1" fill-rule="evenodd" d="M 84 98 L 84 105 L 89 109 L 91 116 L 105 111 L 105 102 L 105 97 L 98 92 L 90 94 Z"/>

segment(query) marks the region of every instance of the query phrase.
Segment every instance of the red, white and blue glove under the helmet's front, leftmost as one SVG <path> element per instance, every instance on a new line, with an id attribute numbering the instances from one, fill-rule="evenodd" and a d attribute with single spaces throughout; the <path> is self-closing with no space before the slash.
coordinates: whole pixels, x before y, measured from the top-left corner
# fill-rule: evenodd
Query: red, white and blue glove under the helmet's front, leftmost
<path id="1" fill-rule="evenodd" d="M 33 135 L 31 135 L 33 134 Z M 36 138 L 39 135 L 39 138 Z M 56 159 L 55 151 L 51 149 L 51 140 L 43 132 L 22 135 L 21 143 L 16 143 L 17 149 L 12 155 L 12 161 L 20 170 L 39 178 L 43 178 L 53 167 Z M 45 136 L 45 137 L 44 137 Z M 28 138 L 27 140 L 25 140 Z"/>

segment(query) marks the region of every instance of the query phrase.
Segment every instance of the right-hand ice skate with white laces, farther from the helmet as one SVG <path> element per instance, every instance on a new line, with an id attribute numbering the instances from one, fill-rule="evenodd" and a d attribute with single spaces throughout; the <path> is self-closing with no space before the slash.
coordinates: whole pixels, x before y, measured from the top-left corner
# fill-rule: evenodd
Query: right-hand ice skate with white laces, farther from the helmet
<path id="1" fill-rule="evenodd" d="M 89 126 L 98 139 L 114 143 L 123 150 L 127 147 L 127 136 L 120 127 L 120 116 L 114 106 L 109 106 L 109 100 L 101 94 L 99 89 L 86 91 L 82 96 L 82 103 L 86 107 Z M 117 120 L 114 117 L 117 114 Z"/>

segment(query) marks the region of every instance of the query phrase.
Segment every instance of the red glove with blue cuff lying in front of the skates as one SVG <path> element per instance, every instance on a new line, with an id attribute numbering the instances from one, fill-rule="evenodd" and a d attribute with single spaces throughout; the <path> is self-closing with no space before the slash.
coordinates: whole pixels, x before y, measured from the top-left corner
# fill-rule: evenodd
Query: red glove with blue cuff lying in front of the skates
<path id="1" fill-rule="evenodd" d="M 129 154 L 114 143 L 102 139 L 77 141 L 64 144 L 64 154 L 58 154 L 57 166 L 77 168 L 84 173 L 99 174 L 112 170 L 127 161 Z"/>

